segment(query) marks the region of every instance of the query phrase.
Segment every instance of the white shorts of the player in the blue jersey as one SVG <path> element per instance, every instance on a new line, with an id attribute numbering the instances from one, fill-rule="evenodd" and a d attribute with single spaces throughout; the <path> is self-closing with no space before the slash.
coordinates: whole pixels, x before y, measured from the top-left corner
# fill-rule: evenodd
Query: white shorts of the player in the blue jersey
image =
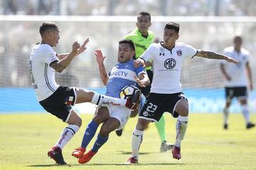
<path id="1" fill-rule="evenodd" d="M 132 113 L 132 110 L 126 108 L 125 106 L 107 106 L 107 109 L 110 112 L 111 118 L 116 118 L 117 120 L 119 120 L 120 126 L 117 130 L 121 130 L 122 128 L 124 128 L 124 125 L 127 123 L 129 116 Z"/>

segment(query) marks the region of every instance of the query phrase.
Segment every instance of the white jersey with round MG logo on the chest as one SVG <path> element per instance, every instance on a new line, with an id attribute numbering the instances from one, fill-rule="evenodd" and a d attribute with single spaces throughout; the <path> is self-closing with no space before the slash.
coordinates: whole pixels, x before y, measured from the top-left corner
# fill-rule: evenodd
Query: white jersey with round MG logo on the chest
<path id="1" fill-rule="evenodd" d="M 176 42 L 171 50 L 163 47 L 161 42 L 153 43 L 142 54 L 145 61 L 153 60 L 153 82 L 151 93 L 175 94 L 181 92 L 181 67 L 186 57 L 193 57 L 197 50 L 190 45 Z"/>

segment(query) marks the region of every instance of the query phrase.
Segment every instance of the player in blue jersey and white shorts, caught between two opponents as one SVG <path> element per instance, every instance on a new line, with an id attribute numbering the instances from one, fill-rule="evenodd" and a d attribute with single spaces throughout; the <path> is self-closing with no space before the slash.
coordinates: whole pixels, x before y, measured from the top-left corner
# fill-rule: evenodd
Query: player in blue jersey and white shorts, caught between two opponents
<path id="1" fill-rule="evenodd" d="M 119 41 L 118 63 L 112 68 L 111 72 L 107 74 L 104 65 L 105 57 L 103 57 L 100 50 L 96 50 L 95 56 L 100 70 L 100 77 L 103 84 L 107 87 L 106 96 L 119 98 L 119 94 L 124 86 L 136 85 L 137 83 L 142 87 L 149 85 L 149 77 L 144 68 L 142 66 L 134 68 L 134 60 L 132 60 L 134 55 L 135 48 L 132 40 Z M 139 79 L 137 77 L 139 77 Z M 131 115 L 131 111 L 132 110 L 124 106 L 98 107 L 95 117 L 92 118 L 92 121 L 87 125 L 81 147 L 75 149 L 72 155 L 79 158 L 78 162 L 80 164 L 89 162 L 97 153 L 98 149 L 107 142 L 110 132 L 124 127 Z M 89 152 L 84 154 L 87 145 L 92 140 L 92 137 L 94 137 L 101 123 L 103 123 L 103 125 L 97 135 L 95 144 Z"/>

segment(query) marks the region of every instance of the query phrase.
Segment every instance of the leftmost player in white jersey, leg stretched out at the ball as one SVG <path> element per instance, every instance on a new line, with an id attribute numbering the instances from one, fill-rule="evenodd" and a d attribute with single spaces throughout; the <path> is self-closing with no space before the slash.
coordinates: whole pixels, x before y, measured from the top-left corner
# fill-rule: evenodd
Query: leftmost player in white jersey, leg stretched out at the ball
<path id="1" fill-rule="evenodd" d="M 57 164 L 66 164 L 62 149 L 65 144 L 75 135 L 82 124 L 82 119 L 73 110 L 75 103 L 91 102 L 99 106 L 127 106 L 134 108 L 137 103 L 136 96 L 127 100 L 102 96 L 93 91 L 85 91 L 70 86 L 59 86 L 55 82 L 55 71 L 62 72 L 68 67 L 74 57 L 84 52 L 85 45 L 89 39 L 80 45 L 73 43 L 72 52 L 68 54 L 58 54 L 53 50 L 60 39 L 58 26 L 55 23 L 42 23 L 39 32 L 41 42 L 33 47 L 29 67 L 33 88 L 36 98 L 43 108 L 57 118 L 68 123 L 60 134 L 60 139 L 55 146 L 50 149 L 48 156 L 55 160 Z"/>

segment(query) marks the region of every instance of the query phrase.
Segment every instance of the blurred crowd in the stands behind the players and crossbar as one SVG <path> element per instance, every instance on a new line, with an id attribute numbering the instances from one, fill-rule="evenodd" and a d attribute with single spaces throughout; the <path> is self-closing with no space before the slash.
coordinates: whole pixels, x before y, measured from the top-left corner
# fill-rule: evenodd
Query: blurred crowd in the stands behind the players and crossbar
<path id="1" fill-rule="evenodd" d="M 85 54 L 56 74 L 58 84 L 102 87 L 94 52 L 101 49 L 107 56 L 107 69 L 117 62 L 118 41 L 135 28 L 137 14 L 148 11 L 151 16 L 255 16 L 255 0 L 0 0 L 0 15 L 113 15 L 134 16 L 134 21 L 107 22 L 54 21 L 60 28 L 56 52 L 70 52 L 72 43 L 89 37 Z M 3 16 L 2 16 L 3 17 Z M 26 18 L 24 16 L 23 18 Z M 167 21 L 166 21 L 167 22 Z M 166 22 L 152 22 L 151 30 L 161 40 Z M 31 87 L 28 60 L 33 45 L 41 41 L 38 33 L 42 21 L 0 20 L 0 87 Z M 178 41 L 198 49 L 223 52 L 233 45 L 235 34 L 242 35 L 244 47 L 251 52 L 252 75 L 256 79 L 256 22 L 184 22 Z M 181 81 L 184 88 L 220 88 L 223 77 L 218 62 L 194 58 L 184 62 Z"/>

